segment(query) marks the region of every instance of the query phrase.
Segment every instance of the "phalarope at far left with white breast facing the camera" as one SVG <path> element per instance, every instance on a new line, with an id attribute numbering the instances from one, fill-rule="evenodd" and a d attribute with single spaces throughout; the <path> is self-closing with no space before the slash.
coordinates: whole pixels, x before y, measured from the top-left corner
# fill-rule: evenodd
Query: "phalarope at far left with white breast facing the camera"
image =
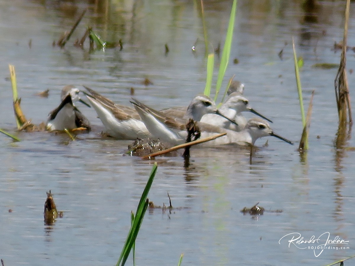
<path id="1" fill-rule="evenodd" d="M 64 86 L 61 92 L 61 103 L 49 113 L 47 130 L 91 129 L 88 119 L 74 105 L 75 102 L 79 101 L 90 107 L 89 104 L 80 99 L 79 92 L 80 90 L 75 86 Z"/>

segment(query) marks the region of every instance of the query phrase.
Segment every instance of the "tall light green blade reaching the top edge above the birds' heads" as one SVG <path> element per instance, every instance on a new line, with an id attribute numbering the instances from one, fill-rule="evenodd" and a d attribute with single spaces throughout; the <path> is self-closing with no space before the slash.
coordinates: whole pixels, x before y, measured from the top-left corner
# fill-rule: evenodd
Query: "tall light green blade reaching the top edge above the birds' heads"
<path id="1" fill-rule="evenodd" d="M 225 70 L 227 69 L 227 66 L 228 66 L 230 49 L 231 49 L 231 46 L 232 46 L 232 39 L 233 39 L 233 30 L 234 30 L 234 21 L 235 21 L 235 11 L 236 11 L 236 9 L 237 9 L 237 0 L 233 0 L 233 6 L 232 6 L 232 10 L 230 11 L 229 24 L 228 24 L 227 34 L 225 36 L 223 52 L 222 52 L 222 58 L 221 58 L 219 71 L 218 71 L 216 94 L 214 96 L 214 101 L 217 100 L 218 92 L 219 92 L 219 90 L 220 90 L 220 88 L 222 86 L 224 73 L 225 73 Z"/>

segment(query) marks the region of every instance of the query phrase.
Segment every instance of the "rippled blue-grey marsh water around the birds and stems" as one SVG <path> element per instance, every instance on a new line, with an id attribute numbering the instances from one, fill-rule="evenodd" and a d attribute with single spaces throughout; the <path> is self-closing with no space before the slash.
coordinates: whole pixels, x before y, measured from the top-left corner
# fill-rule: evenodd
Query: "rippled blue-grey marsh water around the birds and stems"
<path id="1" fill-rule="evenodd" d="M 119 104 L 130 104 L 133 87 L 135 97 L 153 108 L 184 106 L 205 86 L 199 1 L 1 0 L 0 127 L 21 138 L 12 142 L 0 135 L 4 264 L 115 265 L 153 162 L 158 171 L 149 200 L 168 205 L 169 193 L 176 209 L 147 212 L 136 241 L 137 265 L 177 265 L 181 253 L 182 265 L 326 265 L 355 255 L 354 138 L 350 133 L 341 147 L 335 146 L 337 68 L 313 67 L 339 63 L 340 51 L 333 45 L 343 38 L 345 3 L 318 1 L 307 10 L 302 2 L 238 1 L 222 85 L 235 75 L 245 84 L 251 106 L 271 118 L 275 132 L 295 146 L 262 138 L 251 160 L 247 149 L 236 146 L 193 148 L 186 168 L 179 154 L 155 160 L 124 155 L 132 141 L 103 137 L 103 124 L 85 106 L 78 105 L 93 130 L 75 141 L 65 134 L 16 133 L 8 64 L 16 69 L 23 112 L 35 124 L 58 106 L 68 84 L 86 85 Z M 53 47 L 85 8 L 65 48 Z M 204 1 L 211 51 L 219 43 L 223 47 L 230 9 L 231 1 Z M 350 12 L 349 46 L 355 46 L 354 24 Z M 89 52 L 88 43 L 84 49 L 74 47 L 87 26 L 104 40 L 122 39 L 123 49 Z M 310 148 L 304 157 L 297 152 L 302 123 L 292 37 L 304 60 L 305 108 L 315 90 Z M 348 51 L 350 90 L 354 55 Z M 216 55 L 215 77 L 218 63 Z M 144 85 L 145 78 L 153 84 Z M 36 95 L 47 89 L 48 98 Z M 51 226 L 43 222 L 49 190 L 64 212 Z M 240 212 L 258 202 L 266 209 L 263 215 Z M 327 232 L 329 240 L 346 242 L 329 243 L 325 247 L 332 249 L 322 253 L 312 249 L 324 247 Z M 319 238 L 319 243 L 289 242 L 296 233 L 304 241 Z"/>

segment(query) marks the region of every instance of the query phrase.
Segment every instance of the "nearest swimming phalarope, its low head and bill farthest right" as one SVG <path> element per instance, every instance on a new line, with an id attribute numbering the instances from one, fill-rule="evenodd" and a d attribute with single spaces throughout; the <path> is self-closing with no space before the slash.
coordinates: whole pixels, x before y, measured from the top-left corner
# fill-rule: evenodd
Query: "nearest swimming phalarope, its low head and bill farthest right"
<path id="1" fill-rule="evenodd" d="M 133 106 L 147 126 L 147 129 L 152 133 L 153 137 L 159 138 L 163 142 L 168 142 L 171 145 L 178 145 L 185 142 L 186 129 L 185 124 L 177 119 L 167 117 L 159 111 L 156 111 L 145 104 L 133 100 Z M 261 118 L 252 118 L 248 121 L 245 128 L 236 132 L 229 129 L 223 129 L 218 126 L 198 122 L 201 130 L 201 138 L 213 136 L 217 133 L 227 134 L 213 141 L 203 143 L 203 146 L 217 146 L 236 143 L 238 145 L 254 145 L 255 141 L 260 137 L 273 136 L 280 140 L 293 145 L 293 142 L 281 137 L 273 132 L 266 120 Z"/>

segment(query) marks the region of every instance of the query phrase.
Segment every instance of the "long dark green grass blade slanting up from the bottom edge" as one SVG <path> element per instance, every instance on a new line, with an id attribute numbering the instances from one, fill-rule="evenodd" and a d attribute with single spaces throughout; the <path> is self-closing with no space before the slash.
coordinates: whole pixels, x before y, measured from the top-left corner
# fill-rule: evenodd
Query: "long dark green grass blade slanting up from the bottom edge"
<path id="1" fill-rule="evenodd" d="M 139 231 L 141 224 L 143 222 L 144 214 L 146 213 L 146 210 L 148 208 L 149 200 L 147 199 L 147 196 L 148 196 L 149 189 L 152 186 L 155 173 L 157 172 L 157 168 L 158 168 L 157 163 L 154 163 L 151 174 L 149 175 L 149 179 L 147 181 L 147 185 L 144 188 L 141 200 L 138 204 L 136 215 L 135 215 L 133 222 L 132 222 L 132 226 L 131 226 L 130 231 L 127 235 L 125 245 L 122 248 L 121 255 L 120 255 L 120 258 L 119 258 L 116 266 L 119 266 L 119 265 L 123 266 L 125 264 L 129 254 L 131 252 L 133 244 L 136 241 L 138 231 Z M 121 264 L 121 262 L 122 262 L 122 264 Z"/>

